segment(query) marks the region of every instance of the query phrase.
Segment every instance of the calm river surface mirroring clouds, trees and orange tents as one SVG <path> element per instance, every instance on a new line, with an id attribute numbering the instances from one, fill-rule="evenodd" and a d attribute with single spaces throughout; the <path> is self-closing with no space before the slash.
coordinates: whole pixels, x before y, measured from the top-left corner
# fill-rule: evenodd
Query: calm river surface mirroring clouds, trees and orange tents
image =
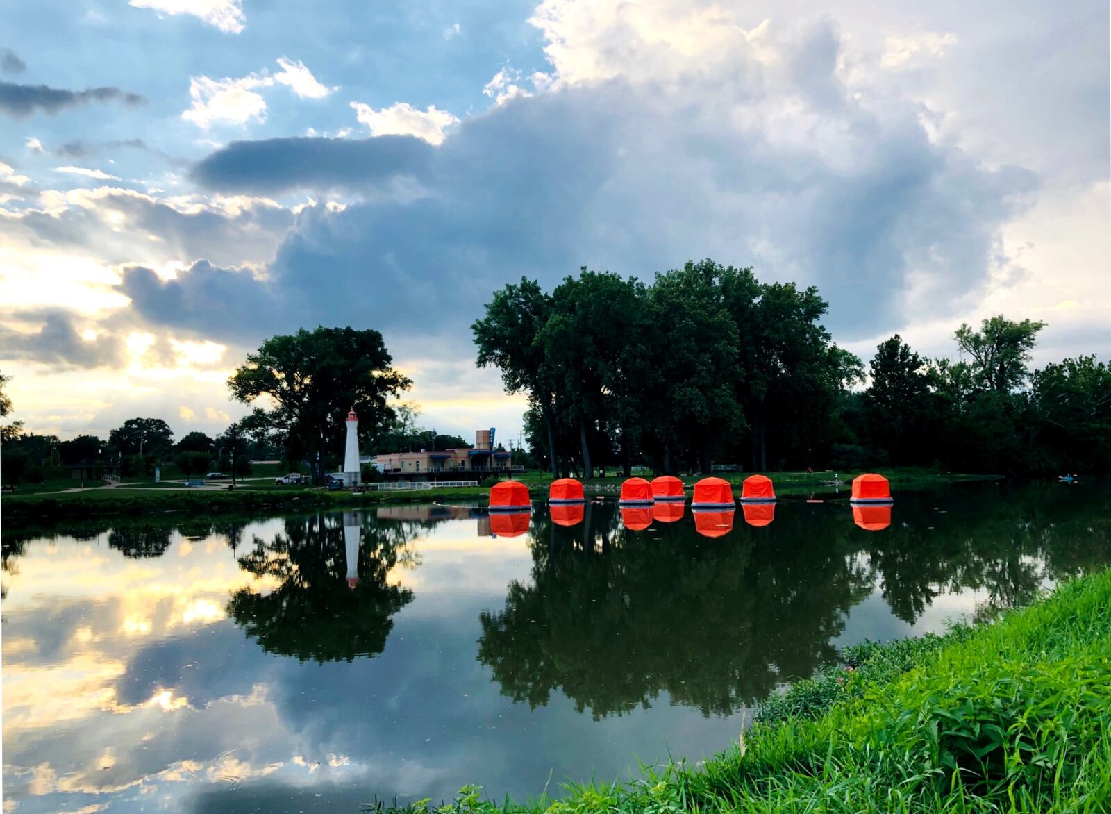
<path id="1" fill-rule="evenodd" d="M 1107 485 L 897 497 L 890 517 L 780 500 L 4 528 L 4 811 L 356 812 L 625 777 L 724 747 L 839 646 L 1111 559 Z"/>

